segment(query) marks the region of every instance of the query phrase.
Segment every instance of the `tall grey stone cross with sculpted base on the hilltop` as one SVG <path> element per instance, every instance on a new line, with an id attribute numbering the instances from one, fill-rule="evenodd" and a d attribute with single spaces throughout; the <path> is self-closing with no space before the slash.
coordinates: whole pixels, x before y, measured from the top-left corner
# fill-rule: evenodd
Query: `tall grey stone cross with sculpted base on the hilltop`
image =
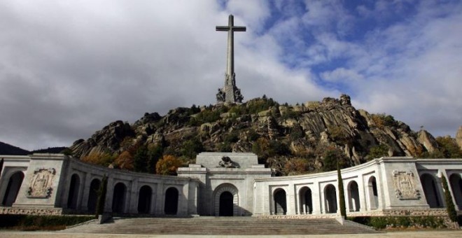
<path id="1" fill-rule="evenodd" d="M 217 26 L 216 31 L 228 31 L 228 57 L 226 59 L 225 87 L 218 89 L 216 100 L 218 103 L 240 103 L 244 97 L 241 95 L 241 90 L 236 87 L 234 32 L 246 31 L 246 27 L 236 27 L 234 17 L 230 15 L 228 18 L 228 26 Z"/>

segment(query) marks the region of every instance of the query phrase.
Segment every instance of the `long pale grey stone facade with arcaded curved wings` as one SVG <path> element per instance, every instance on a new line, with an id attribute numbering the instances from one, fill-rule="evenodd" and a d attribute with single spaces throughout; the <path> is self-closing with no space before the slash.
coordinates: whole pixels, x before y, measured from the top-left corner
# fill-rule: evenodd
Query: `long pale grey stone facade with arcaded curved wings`
<path id="1" fill-rule="evenodd" d="M 0 214 L 339 216 L 337 172 L 275 177 L 253 153 L 200 153 L 178 176 L 110 169 L 62 154 L 0 155 Z M 444 216 L 442 179 L 462 211 L 462 159 L 377 158 L 342 169 L 347 216 Z"/>

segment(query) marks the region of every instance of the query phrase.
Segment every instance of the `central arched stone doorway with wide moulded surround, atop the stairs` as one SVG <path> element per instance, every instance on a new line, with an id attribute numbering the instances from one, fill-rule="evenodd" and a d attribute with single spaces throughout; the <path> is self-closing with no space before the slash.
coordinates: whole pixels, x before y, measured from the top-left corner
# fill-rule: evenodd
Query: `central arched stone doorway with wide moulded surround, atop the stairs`
<path id="1" fill-rule="evenodd" d="M 232 204 L 230 202 L 232 202 Z M 229 207 L 230 205 L 232 205 L 232 208 Z M 230 214 L 231 209 L 232 214 Z M 240 216 L 239 190 L 237 190 L 237 188 L 234 185 L 230 183 L 223 183 L 217 188 L 215 188 L 214 214 L 215 216 Z"/>

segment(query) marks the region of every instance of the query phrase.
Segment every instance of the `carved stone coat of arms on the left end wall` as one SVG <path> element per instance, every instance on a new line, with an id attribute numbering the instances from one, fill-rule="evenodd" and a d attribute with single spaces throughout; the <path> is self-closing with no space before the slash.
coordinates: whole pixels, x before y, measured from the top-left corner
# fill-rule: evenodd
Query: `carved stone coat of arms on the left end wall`
<path id="1" fill-rule="evenodd" d="M 50 169 L 35 169 L 34 176 L 30 181 L 27 197 L 29 198 L 48 198 L 52 191 L 52 181 L 55 178 L 56 171 Z"/>

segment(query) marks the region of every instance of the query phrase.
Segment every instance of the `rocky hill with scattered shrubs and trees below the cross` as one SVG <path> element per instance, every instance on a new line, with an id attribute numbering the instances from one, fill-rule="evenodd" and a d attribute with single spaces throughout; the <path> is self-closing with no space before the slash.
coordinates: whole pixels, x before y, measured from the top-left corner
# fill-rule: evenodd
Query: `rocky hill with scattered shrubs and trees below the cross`
<path id="1" fill-rule="evenodd" d="M 297 105 L 264 96 L 243 104 L 177 108 L 165 116 L 146 113 L 132 125 L 110 123 L 71 146 L 78 158 L 116 167 L 123 167 L 124 152 L 125 157 L 144 156 L 141 160 L 174 155 L 185 164 L 200 151 L 254 152 L 278 175 L 330 170 L 336 166 L 332 158 L 348 167 L 384 155 L 421 156 L 437 150 L 437 141 L 425 130 L 413 132 L 392 116 L 357 110 L 345 94 Z M 141 166 L 148 168 L 138 170 L 151 172 L 153 162 Z"/>

